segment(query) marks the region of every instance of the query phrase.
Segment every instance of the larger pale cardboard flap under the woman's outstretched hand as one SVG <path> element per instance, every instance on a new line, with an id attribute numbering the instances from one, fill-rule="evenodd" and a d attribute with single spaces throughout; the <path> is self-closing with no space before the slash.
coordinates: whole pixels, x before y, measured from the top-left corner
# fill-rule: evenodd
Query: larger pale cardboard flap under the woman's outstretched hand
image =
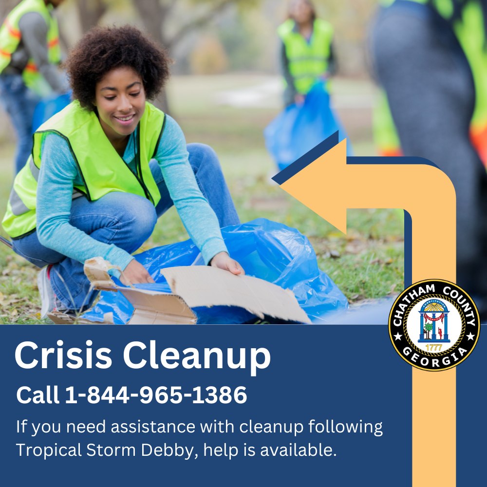
<path id="1" fill-rule="evenodd" d="M 235 276 L 206 265 L 161 269 L 171 291 L 191 307 L 239 306 L 263 318 L 310 323 L 289 289 L 251 276 Z"/>

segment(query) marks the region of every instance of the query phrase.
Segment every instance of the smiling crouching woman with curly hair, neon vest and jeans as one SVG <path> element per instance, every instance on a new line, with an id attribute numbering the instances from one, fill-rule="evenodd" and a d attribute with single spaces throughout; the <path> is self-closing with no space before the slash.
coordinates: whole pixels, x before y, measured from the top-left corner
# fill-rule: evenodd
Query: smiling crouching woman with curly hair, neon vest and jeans
<path id="1" fill-rule="evenodd" d="M 166 53 L 134 27 L 95 28 L 66 68 L 74 101 L 35 133 L 2 222 L 15 252 L 43 267 L 41 317 L 91 305 L 83 262 L 95 256 L 120 267 L 125 284 L 153 282 L 131 253 L 173 204 L 205 262 L 243 274 L 220 232 L 240 222 L 216 154 L 186 146 L 146 101 L 169 77 Z"/>

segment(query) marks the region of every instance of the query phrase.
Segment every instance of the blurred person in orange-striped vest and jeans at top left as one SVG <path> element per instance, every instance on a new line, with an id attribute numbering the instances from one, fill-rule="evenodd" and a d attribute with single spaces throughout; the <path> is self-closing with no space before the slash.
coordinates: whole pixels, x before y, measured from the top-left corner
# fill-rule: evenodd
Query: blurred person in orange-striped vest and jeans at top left
<path id="1" fill-rule="evenodd" d="M 0 100 L 17 132 L 15 172 L 32 150 L 32 117 L 41 97 L 69 87 L 61 61 L 52 9 L 63 0 L 22 0 L 0 28 Z"/>

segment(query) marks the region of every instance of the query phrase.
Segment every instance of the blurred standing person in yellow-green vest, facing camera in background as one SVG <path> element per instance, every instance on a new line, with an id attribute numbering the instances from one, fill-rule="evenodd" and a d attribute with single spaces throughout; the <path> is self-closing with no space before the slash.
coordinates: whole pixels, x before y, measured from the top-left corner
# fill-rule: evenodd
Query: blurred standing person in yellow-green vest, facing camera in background
<path id="1" fill-rule="evenodd" d="M 281 72 L 286 88 L 284 106 L 302 103 L 317 79 L 336 72 L 333 27 L 317 19 L 309 0 L 292 0 L 288 19 L 279 26 Z"/>

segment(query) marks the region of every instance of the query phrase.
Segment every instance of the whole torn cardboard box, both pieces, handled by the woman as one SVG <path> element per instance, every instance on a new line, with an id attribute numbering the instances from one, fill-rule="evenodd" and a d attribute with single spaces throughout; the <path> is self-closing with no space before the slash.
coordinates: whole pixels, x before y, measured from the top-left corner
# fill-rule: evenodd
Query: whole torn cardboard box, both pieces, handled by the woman
<path id="1" fill-rule="evenodd" d="M 164 293 L 117 286 L 108 274 L 111 268 L 100 257 L 85 262 L 85 274 L 96 289 L 121 292 L 131 302 L 129 324 L 194 324 L 197 317 L 191 308 L 199 306 L 238 306 L 259 318 L 309 323 L 291 291 L 262 279 L 203 265 L 168 267 L 161 273 L 172 293 Z"/>

